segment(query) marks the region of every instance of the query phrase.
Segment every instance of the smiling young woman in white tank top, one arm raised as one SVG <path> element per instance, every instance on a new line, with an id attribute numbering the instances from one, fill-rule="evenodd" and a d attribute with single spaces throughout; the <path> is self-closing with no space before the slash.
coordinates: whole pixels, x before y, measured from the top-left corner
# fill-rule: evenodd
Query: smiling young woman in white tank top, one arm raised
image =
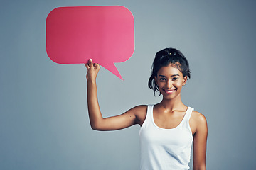
<path id="1" fill-rule="evenodd" d="M 181 89 L 190 78 L 186 57 L 174 48 L 156 53 L 149 88 L 159 91 L 163 99 L 149 106 L 103 118 L 97 100 L 96 77 L 99 64 L 89 60 L 87 68 L 87 102 L 90 125 L 94 130 L 119 130 L 139 124 L 141 169 L 189 169 L 193 142 L 193 169 L 206 169 L 206 118 L 181 101 Z"/>

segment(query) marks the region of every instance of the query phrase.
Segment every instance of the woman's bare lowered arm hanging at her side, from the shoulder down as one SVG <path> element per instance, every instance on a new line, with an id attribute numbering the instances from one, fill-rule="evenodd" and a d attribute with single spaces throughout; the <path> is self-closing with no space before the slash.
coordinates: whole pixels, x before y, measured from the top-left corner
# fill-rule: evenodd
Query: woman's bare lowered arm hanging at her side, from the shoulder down
<path id="1" fill-rule="evenodd" d="M 193 170 L 206 170 L 207 122 L 201 113 L 194 112 L 196 132 L 193 135 Z"/>

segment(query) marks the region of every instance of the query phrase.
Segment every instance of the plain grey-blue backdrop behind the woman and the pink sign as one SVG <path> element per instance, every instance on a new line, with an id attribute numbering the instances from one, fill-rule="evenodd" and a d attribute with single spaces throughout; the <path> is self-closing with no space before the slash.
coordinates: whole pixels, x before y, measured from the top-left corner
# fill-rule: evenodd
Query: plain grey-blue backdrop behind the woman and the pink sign
<path id="1" fill-rule="evenodd" d="M 45 22 L 59 6 L 121 5 L 135 20 L 135 51 L 97 84 L 104 116 L 157 103 L 147 88 L 157 51 L 191 64 L 187 106 L 208 120 L 208 169 L 255 169 L 255 1 L 1 1 L 0 169 L 139 169 L 139 125 L 90 129 L 82 64 L 46 55 Z"/>

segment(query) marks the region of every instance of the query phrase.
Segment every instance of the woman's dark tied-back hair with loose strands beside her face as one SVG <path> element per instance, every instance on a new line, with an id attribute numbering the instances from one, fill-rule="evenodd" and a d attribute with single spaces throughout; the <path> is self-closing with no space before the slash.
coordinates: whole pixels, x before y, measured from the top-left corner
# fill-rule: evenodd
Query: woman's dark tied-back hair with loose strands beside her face
<path id="1" fill-rule="evenodd" d="M 186 60 L 186 57 L 181 51 L 176 50 L 175 48 L 165 48 L 164 50 L 156 52 L 148 83 L 149 89 L 154 90 L 154 96 L 156 96 L 156 91 L 159 91 L 159 87 L 154 78 L 157 77 L 157 72 L 159 72 L 161 67 L 166 67 L 169 64 L 173 64 L 180 72 L 182 72 L 183 77 L 191 77 L 188 60 Z M 160 95 L 161 94 L 159 94 L 159 96 Z"/>

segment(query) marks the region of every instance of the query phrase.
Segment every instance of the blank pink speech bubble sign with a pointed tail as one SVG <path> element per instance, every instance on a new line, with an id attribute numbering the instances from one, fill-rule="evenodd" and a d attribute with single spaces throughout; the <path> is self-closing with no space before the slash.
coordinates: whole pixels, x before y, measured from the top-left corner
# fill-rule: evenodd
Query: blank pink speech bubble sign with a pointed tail
<path id="1" fill-rule="evenodd" d="M 91 58 L 122 79 L 114 62 L 134 52 L 134 17 L 124 6 L 55 8 L 46 18 L 46 52 L 58 64 Z"/>

